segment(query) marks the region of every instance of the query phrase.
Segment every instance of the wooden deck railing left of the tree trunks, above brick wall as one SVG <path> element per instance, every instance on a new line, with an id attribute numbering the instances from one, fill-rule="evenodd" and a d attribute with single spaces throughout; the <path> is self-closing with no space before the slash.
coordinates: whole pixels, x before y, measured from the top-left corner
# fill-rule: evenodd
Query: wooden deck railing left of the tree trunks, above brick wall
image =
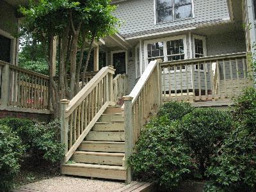
<path id="1" fill-rule="evenodd" d="M 0 61 L 0 108 L 32 113 L 50 113 L 49 77 Z"/>

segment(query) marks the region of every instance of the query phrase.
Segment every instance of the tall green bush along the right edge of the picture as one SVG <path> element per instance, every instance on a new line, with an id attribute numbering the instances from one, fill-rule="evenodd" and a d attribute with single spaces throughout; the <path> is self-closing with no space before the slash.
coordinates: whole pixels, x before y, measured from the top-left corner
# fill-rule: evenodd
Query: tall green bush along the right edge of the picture
<path id="1" fill-rule="evenodd" d="M 235 100 L 236 129 L 212 157 L 206 191 L 256 190 L 256 90 L 249 88 Z"/>

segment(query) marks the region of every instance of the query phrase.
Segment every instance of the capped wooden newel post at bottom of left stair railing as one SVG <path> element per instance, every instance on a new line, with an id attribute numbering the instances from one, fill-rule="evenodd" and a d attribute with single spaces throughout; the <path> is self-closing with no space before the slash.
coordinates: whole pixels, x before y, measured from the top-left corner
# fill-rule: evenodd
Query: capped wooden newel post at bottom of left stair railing
<path id="1" fill-rule="evenodd" d="M 68 104 L 70 100 L 63 99 L 61 102 L 61 143 L 65 144 L 65 154 L 68 152 L 68 118 L 66 118 L 66 109 L 68 108 Z M 62 163 L 66 160 L 63 159 Z"/>

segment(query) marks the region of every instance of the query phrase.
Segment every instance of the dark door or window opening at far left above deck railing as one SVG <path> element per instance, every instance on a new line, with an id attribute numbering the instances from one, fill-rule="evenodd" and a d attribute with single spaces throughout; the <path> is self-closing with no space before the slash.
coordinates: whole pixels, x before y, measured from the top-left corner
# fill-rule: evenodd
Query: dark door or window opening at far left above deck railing
<path id="1" fill-rule="evenodd" d="M 11 39 L 0 35 L 0 60 L 10 63 Z"/>

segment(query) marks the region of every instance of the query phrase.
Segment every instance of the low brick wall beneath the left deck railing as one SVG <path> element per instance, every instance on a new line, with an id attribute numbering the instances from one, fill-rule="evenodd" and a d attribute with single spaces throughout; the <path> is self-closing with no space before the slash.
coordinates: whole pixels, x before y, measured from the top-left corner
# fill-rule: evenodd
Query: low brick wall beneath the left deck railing
<path id="1" fill-rule="evenodd" d="M 29 118 L 31 120 L 39 120 L 40 122 L 50 122 L 51 120 L 51 115 L 47 115 L 47 114 L 0 110 L 0 118 L 6 118 L 6 117 Z"/>

